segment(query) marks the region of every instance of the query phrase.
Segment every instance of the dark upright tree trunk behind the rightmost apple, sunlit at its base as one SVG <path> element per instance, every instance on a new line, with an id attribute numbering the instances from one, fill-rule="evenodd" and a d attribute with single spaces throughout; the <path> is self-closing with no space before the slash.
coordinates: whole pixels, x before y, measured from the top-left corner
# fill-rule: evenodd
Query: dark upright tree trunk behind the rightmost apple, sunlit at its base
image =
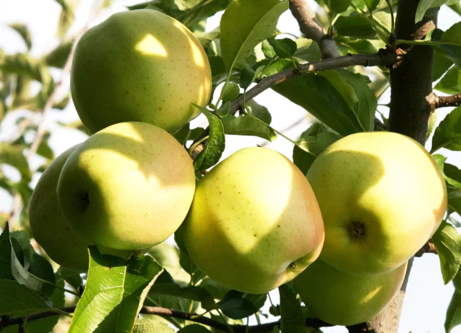
<path id="1" fill-rule="evenodd" d="M 421 40 L 436 27 L 436 16 L 414 23 L 417 0 L 399 0 L 395 19 L 398 40 Z M 388 130 L 410 136 L 424 145 L 428 121 L 433 108 L 428 101 L 432 94 L 434 51 L 429 46 L 398 45 L 401 60 L 390 68 L 391 101 Z M 419 252 L 419 251 L 418 251 Z M 348 327 L 350 333 L 396 333 L 402 312 L 405 290 L 414 257 L 408 261 L 401 290 L 381 313 L 367 323 Z"/>

